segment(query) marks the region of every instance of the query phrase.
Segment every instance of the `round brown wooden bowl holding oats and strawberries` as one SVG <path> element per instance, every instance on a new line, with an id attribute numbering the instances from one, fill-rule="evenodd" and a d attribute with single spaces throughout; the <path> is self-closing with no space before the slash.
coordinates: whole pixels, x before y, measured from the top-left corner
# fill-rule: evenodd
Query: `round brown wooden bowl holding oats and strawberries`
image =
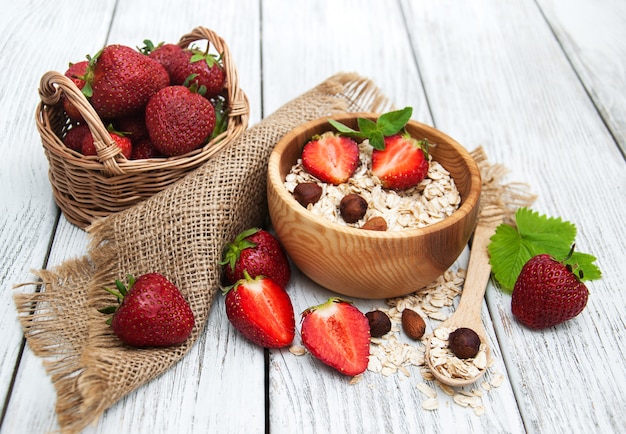
<path id="1" fill-rule="evenodd" d="M 371 113 L 333 116 L 352 128 Z M 443 274 L 458 258 L 474 231 L 481 178 L 472 156 L 442 132 L 410 121 L 407 131 L 436 146 L 430 153 L 452 175 L 460 207 L 440 222 L 418 229 L 370 231 L 342 226 L 300 205 L 284 186 L 304 144 L 315 134 L 333 130 L 327 118 L 286 134 L 268 164 L 267 197 L 276 234 L 295 265 L 311 280 L 339 294 L 382 299 L 414 292 Z"/>

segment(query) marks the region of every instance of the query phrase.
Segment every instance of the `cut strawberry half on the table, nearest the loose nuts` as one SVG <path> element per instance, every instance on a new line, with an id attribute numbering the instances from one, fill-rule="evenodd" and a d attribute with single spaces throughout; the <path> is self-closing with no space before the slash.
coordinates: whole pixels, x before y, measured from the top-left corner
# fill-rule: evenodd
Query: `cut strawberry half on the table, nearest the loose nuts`
<path id="1" fill-rule="evenodd" d="M 311 354 L 342 374 L 358 375 L 367 369 L 370 326 L 352 303 L 329 298 L 302 313 L 302 344 Z"/>

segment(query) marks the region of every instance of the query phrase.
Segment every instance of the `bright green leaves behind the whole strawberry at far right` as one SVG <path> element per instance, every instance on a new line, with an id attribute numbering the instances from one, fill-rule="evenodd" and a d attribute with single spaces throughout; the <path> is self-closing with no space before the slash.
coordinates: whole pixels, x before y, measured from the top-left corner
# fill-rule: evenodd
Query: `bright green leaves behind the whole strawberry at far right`
<path id="1" fill-rule="evenodd" d="M 547 217 L 528 208 L 515 213 L 516 227 L 501 224 L 496 228 L 488 246 L 491 269 L 505 292 L 512 292 L 522 267 L 533 256 L 547 253 L 564 260 L 576 238 L 576 226 L 560 218 Z M 566 261 L 582 270 L 581 280 L 598 279 L 596 258 L 586 253 L 574 252 Z"/>

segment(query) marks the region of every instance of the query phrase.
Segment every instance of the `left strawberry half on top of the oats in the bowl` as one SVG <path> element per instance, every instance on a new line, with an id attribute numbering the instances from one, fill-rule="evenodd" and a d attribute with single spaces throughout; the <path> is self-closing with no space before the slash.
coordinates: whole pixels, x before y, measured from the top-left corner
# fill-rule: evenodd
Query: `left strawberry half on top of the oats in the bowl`
<path id="1" fill-rule="evenodd" d="M 324 133 L 304 145 L 302 165 L 322 182 L 342 184 L 359 165 L 359 146 L 349 137 Z"/>

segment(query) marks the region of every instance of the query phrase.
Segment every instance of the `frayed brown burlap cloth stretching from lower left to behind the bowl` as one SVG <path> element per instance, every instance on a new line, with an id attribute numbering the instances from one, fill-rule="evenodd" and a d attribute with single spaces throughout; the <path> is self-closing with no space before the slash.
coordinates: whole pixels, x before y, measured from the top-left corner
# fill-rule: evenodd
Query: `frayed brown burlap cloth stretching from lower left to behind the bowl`
<path id="1" fill-rule="evenodd" d="M 219 289 L 224 244 L 241 230 L 266 222 L 267 160 L 285 133 L 338 111 L 389 108 L 371 81 L 355 74 L 330 77 L 249 128 L 176 184 L 94 222 L 87 229 L 90 244 L 83 258 L 35 272 L 42 282 L 37 290 L 14 298 L 28 344 L 44 359 L 54 383 L 61 431 L 81 431 L 189 351 Z M 181 289 L 196 326 L 177 347 L 125 347 L 97 311 L 111 302 L 102 287 L 127 273 L 153 271 Z"/>

